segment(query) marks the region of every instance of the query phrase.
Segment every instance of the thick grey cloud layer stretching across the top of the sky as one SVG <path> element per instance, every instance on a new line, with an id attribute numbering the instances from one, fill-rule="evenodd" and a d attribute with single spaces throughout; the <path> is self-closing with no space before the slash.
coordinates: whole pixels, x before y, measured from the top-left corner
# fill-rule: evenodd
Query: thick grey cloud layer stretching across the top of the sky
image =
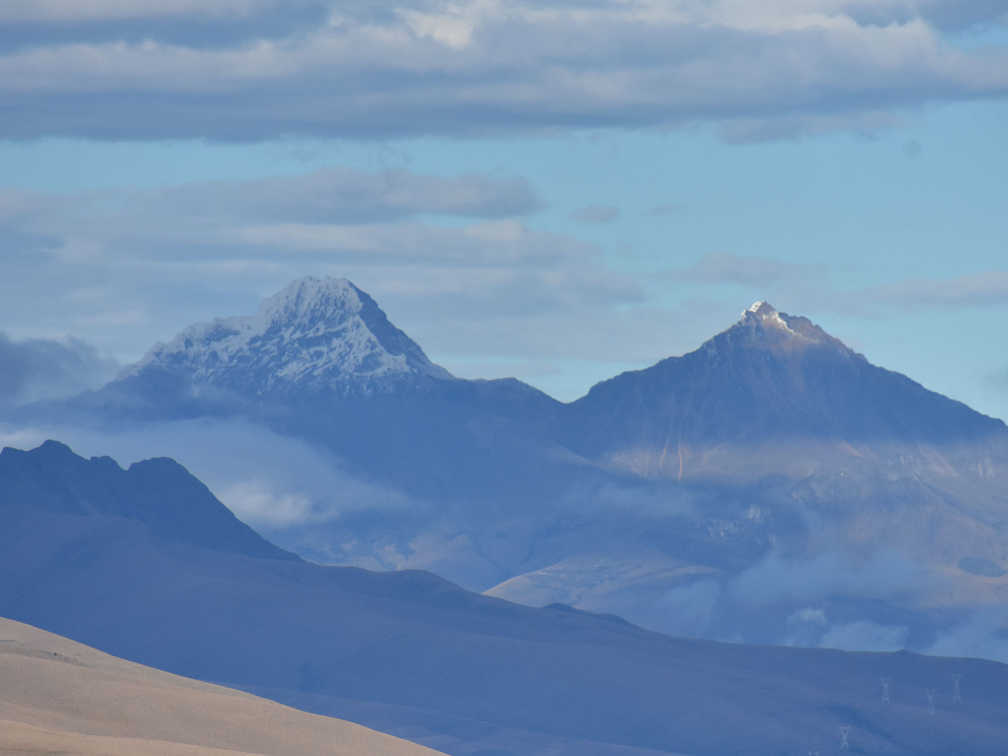
<path id="1" fill-rule="evenodd" d="M 1008 50 L 935 0 L 45 0 L 0 8 L 0 135 L 262 139 L 715 120 L 730 139 L 1001 97 Z"/>

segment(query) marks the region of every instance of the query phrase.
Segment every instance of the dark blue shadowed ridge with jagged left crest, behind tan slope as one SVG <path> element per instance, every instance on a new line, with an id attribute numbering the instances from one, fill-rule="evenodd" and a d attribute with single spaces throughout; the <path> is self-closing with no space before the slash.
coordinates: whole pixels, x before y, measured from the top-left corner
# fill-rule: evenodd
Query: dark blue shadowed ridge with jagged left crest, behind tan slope
<path id="1" fill-rule="evenodd" d="M 250 553 L 177 468 L 150 479 L 152 497 L 120 488 L 149 465 L 122 471 L 54 443 L 0 463 L 0 615 L 447 753 L 830 753 L 841 727 L 854 753 L 993 756 L 1008 742 L 996 662 L 675 639 L 427 573 Z M 172 502 L 199 527 L 155 524 Z"/>

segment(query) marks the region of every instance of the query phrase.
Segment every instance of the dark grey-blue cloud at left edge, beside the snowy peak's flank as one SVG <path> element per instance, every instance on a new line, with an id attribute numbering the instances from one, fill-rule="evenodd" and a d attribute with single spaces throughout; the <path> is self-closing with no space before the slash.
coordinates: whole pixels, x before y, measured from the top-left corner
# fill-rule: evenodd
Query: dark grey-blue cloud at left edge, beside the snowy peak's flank
<path id="1" fill-rule="evenodd" d="M 0 404 L 73 396 L 100 386 L 118 367 L 80 339 L 12 342 L 0 333 Z"/>

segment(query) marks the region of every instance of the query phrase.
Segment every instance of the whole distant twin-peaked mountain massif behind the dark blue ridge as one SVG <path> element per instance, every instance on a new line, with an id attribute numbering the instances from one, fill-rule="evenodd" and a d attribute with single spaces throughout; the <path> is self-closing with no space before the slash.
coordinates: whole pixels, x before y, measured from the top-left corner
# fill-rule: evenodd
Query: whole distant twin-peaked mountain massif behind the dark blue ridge
<path id="1" fill-rule="evenodd" d="M 304 278 L 19 411 L 175 457 L 325 563 L 714 639 L 1008 654 L 975 614 L 1008 599 L 1004 423 L 767 302 L 563 404 Z"/>

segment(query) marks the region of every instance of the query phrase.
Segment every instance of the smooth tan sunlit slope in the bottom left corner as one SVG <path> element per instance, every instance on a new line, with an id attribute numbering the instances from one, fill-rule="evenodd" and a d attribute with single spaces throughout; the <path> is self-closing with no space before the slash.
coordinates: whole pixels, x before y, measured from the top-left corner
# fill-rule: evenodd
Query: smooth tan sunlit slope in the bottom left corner
<path id="1" fill-rule="evenodd" d="M 0 756 L 436 756 L 0 618 Z"/>

